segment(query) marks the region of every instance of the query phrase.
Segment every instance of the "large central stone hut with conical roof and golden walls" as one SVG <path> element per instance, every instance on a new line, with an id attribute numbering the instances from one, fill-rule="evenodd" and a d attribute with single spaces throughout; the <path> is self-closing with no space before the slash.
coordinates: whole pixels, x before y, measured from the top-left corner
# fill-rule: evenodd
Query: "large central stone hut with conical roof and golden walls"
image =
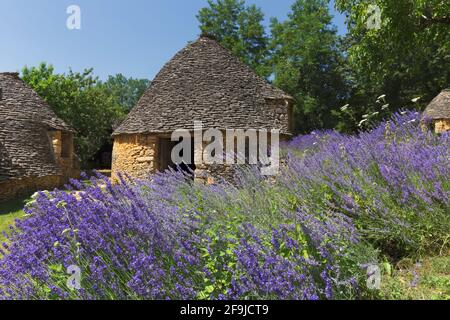
<path id="1" fill-rule="evenodd" d="M 162 68 L 113 133 L 113 179 L 117 173 L 143 178 L 171 167 L 171 133 L 193 130 L 194 121 L 205 130 L 277 129 L 287 139 L 292 102 L 213 38 L 201 36 Z M 195 178 L 208 180 L 226 168 L 195 161 L 191 169 Z"/>

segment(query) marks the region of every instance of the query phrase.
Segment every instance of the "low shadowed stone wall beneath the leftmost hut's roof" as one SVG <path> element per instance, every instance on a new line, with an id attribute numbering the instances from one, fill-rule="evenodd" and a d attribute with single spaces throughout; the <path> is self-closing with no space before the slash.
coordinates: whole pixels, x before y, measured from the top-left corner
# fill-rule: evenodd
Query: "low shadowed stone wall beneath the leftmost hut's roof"
<path id="1" fill-rule="evenodd" d="M 0 182 L 0 202 L 31 195 L 39 190 L 53 190 L 61 183 L 60 176 L 29 177 Z"/>

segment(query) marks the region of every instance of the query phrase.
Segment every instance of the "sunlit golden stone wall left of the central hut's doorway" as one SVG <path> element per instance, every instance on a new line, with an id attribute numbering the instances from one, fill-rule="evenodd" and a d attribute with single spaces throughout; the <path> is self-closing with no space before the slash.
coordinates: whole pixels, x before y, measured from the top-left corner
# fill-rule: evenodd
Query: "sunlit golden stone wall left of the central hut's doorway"
<path id="1" fill-rule="evenodd" d="M 120 135 L 114 139 L 112 180 L 118 173 L 133 178 L 145 178 L 158 168 L 158 137 L 156 135 Z"/>

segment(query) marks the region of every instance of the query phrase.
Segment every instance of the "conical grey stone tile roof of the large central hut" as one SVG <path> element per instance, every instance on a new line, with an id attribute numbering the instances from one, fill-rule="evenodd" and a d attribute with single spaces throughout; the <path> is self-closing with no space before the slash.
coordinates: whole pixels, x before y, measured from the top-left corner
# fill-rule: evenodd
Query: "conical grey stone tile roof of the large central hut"
<path id="1" fill-rule="evenodd" d="M 163 67 L 113 135 L 192 129 L 194 120 L 209 128 L 289 133 L 288 121 L 277 117 L 268 100 L 280 100 L 278 108 L 287 108 L 286 100 L 292 97 L 256 75 L 215 40 L 200 37 Z"/>

